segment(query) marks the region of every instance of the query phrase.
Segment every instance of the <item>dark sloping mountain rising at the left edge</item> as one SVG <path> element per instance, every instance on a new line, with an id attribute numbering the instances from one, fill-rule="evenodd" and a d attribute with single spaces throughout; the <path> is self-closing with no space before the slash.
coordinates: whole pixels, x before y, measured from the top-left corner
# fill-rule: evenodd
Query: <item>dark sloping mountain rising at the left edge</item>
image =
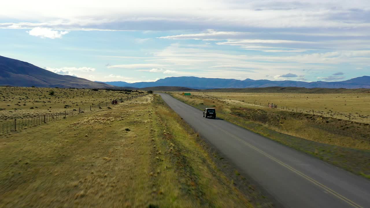
<path id="1" fill-rule="evenodd" d="M 0 56 L 0 85 L 18 87 L 112 88 L 114 86 L 83 78 L 55 74 L 13 58 Z"/>

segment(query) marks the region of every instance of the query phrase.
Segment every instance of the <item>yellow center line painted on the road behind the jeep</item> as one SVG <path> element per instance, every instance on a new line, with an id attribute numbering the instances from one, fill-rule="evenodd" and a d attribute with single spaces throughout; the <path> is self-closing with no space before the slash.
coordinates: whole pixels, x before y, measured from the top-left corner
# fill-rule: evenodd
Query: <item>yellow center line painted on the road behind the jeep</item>
<path id="1" fill-rule="evenodd" d="M 360 205 L 356 204 L 355 202 L 351 201 L 350 199 L 347 199 L 347 198 L 346 198 L 346 197 L 344 197 L 343 195 L 340 195 L 339 193 L 337 193 L 337 192 L 333 191 L 332 189 L 330 189 L 330 188 L 326 187 L 325 185 L 321 184 L 320 182 L 318 182 L 318 181 L 314 180 L 313 178 L 311 178 L 311 177 L 309 177 L 309 176 L 307 176 L 307 175 L 303 174 L 302 172 L 300 172 L 300 171 L 296 170 L 295 168 L 291 167 L 290 165 L 285 164 L 284 162 L 282 162 L 282 161 L 278 160 L 277 158 L 275 158 L 275 157 L 273 157 L 273 156 L 271 156 L 271 155 L 267 154 L 266 152 L 264 152 L 264 151 L 260 150 L 259 148 L 257 148 L 257 147 L 255 147 L 255 146 L 253 146 L 253 145 L 249 144 L 248 142 L 246 142 L 246 141 L 244 141 L 244 140 L 240 139 L 239 137 L 236 137 L 235 135 L 233 135 L 233 134 L 231 134 L 231 133 L 229 133 L 229 132 L 227 132 L 227 131 L 225 131 L 225 130 L 223 130 L 223 129 L 219 128 L 219 127 L 217 127 L 216 125 L 212 124 L 211 122 L 209 122 L 209 124 L 213 125 L 215 128 L 218 128 L 219 130 L 221 130 L 221 131 L 225 132 L 226 134 L 229 134 L 231 137 L 236 138 L 237 140 L 239 140 L 239 141 L 243 142 L 244 144 L 248 145 L 249 147 L 251 147 L 251 148 L 253 148 L 253 149 L 257 150 L 257 151 L 258 151 L 258 152 L 260 152 L 261 154 L 265 155 L 266 157 L 270 158 L 270 159 L 271 159 L 271 160 L 273 160 L 273 161 L 276 161 L 276 162 L 277 162 L 277 163 L 279 163 L 280 165 L 282 165 L 282 166 L 284 166 L 284 167 L 288 168 L 289 170 L 291 170 L 291 171 L 295 172 L 296 174 L 298 174 L 298 175 L 302 176 L 302 177 L 303 177 L 303 178 L 305 178 L 306 180 L 308 180 L 308 181 L 312 182 L 313 184 L 315 184 L 315 185 L 319 186 L 320 188 L 324 189 L 325 191 L 329 192 L 330 194 L 333 194 L 335 197 L 337 197 L 337 198 L 339 198 L 339 199 L 342 199 L 343 201 L 347 202 L 347 203 L 348 203 L 349 205 L 351 205 L 352 207 L 355 207 L 355 208 L 363 208 L 363 207 L 361 207 Z"/>

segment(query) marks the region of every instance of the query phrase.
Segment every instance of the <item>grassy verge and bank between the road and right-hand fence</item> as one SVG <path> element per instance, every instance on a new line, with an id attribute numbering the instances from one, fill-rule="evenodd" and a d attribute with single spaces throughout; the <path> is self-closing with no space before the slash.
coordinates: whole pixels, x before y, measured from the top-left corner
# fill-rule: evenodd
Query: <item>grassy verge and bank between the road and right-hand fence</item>
<path id="1" fill-rule="evenodd" d="M 232 100 L 171 93 L 236 125 L 370 178 L 370 125 L 322 115 L 276 110 Z"/>

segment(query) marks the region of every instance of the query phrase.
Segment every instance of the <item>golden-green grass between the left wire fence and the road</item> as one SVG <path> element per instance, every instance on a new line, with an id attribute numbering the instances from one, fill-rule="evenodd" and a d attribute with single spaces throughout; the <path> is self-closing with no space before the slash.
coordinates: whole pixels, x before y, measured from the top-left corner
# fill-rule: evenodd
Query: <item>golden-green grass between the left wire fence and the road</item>
<path id="1" fill-rule="evenodd" d="M 253 207 L 153 96 L 0 138 L 2 207 Z"/>

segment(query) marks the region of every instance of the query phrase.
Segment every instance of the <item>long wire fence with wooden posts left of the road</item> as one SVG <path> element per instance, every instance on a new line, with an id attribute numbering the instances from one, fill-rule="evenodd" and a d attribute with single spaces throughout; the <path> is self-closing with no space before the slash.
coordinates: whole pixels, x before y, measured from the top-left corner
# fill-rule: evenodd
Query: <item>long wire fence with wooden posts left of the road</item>
<path id="1" fill-rule="evenodd" d="M 28 128 L 28 127 L 33 127 L 33 126 L 37 126 L 37 125 L 41 125 L 41 124 L 50 123 L 50 122 L 53 122 L 53 121 L 59 121 L 59 120 L 65 119 L 65 118 L 73 116 L 73 115 L 78 115 L 78 114 L 81 114 L 81 113 L 87 113 L 87 112 L 90 112 L 90 111 L 95 111 L 95 110 L 98 110 L 98 109 L 102 109 L 103 107 L 109 107 L 111 105 L 122 103 L 124 101 L 129 101 L 129 100 L 132 100 L 134 98 L 143 97 L 145 95 L 148 95 L 148 94 L 135 95 L 135 96 L 131 96 L 131 97 L 121 98 L 120 100 L 117 100 L 117 102 L 115 102 L 115 101 L 102 102 L 102 103 L 99 103 L 99 104 L 96 104 L 96 105 L 74 108 L 72 110 L 65 110 L 65 111 L 58 112 L 58 113 L 47 113 L 47 114 L 44 114 L 44 115 L 38 115 L 38 116 L 33 117 L 33 118 L 8 120 L 8 121 L 5 121 L 4 123 L 0 124 L 1 125 L 0 132 L 2 134 L 4 134 L 4 133 L 9 133 L 9 132 L 21 130 L 21 129 Z"/>

